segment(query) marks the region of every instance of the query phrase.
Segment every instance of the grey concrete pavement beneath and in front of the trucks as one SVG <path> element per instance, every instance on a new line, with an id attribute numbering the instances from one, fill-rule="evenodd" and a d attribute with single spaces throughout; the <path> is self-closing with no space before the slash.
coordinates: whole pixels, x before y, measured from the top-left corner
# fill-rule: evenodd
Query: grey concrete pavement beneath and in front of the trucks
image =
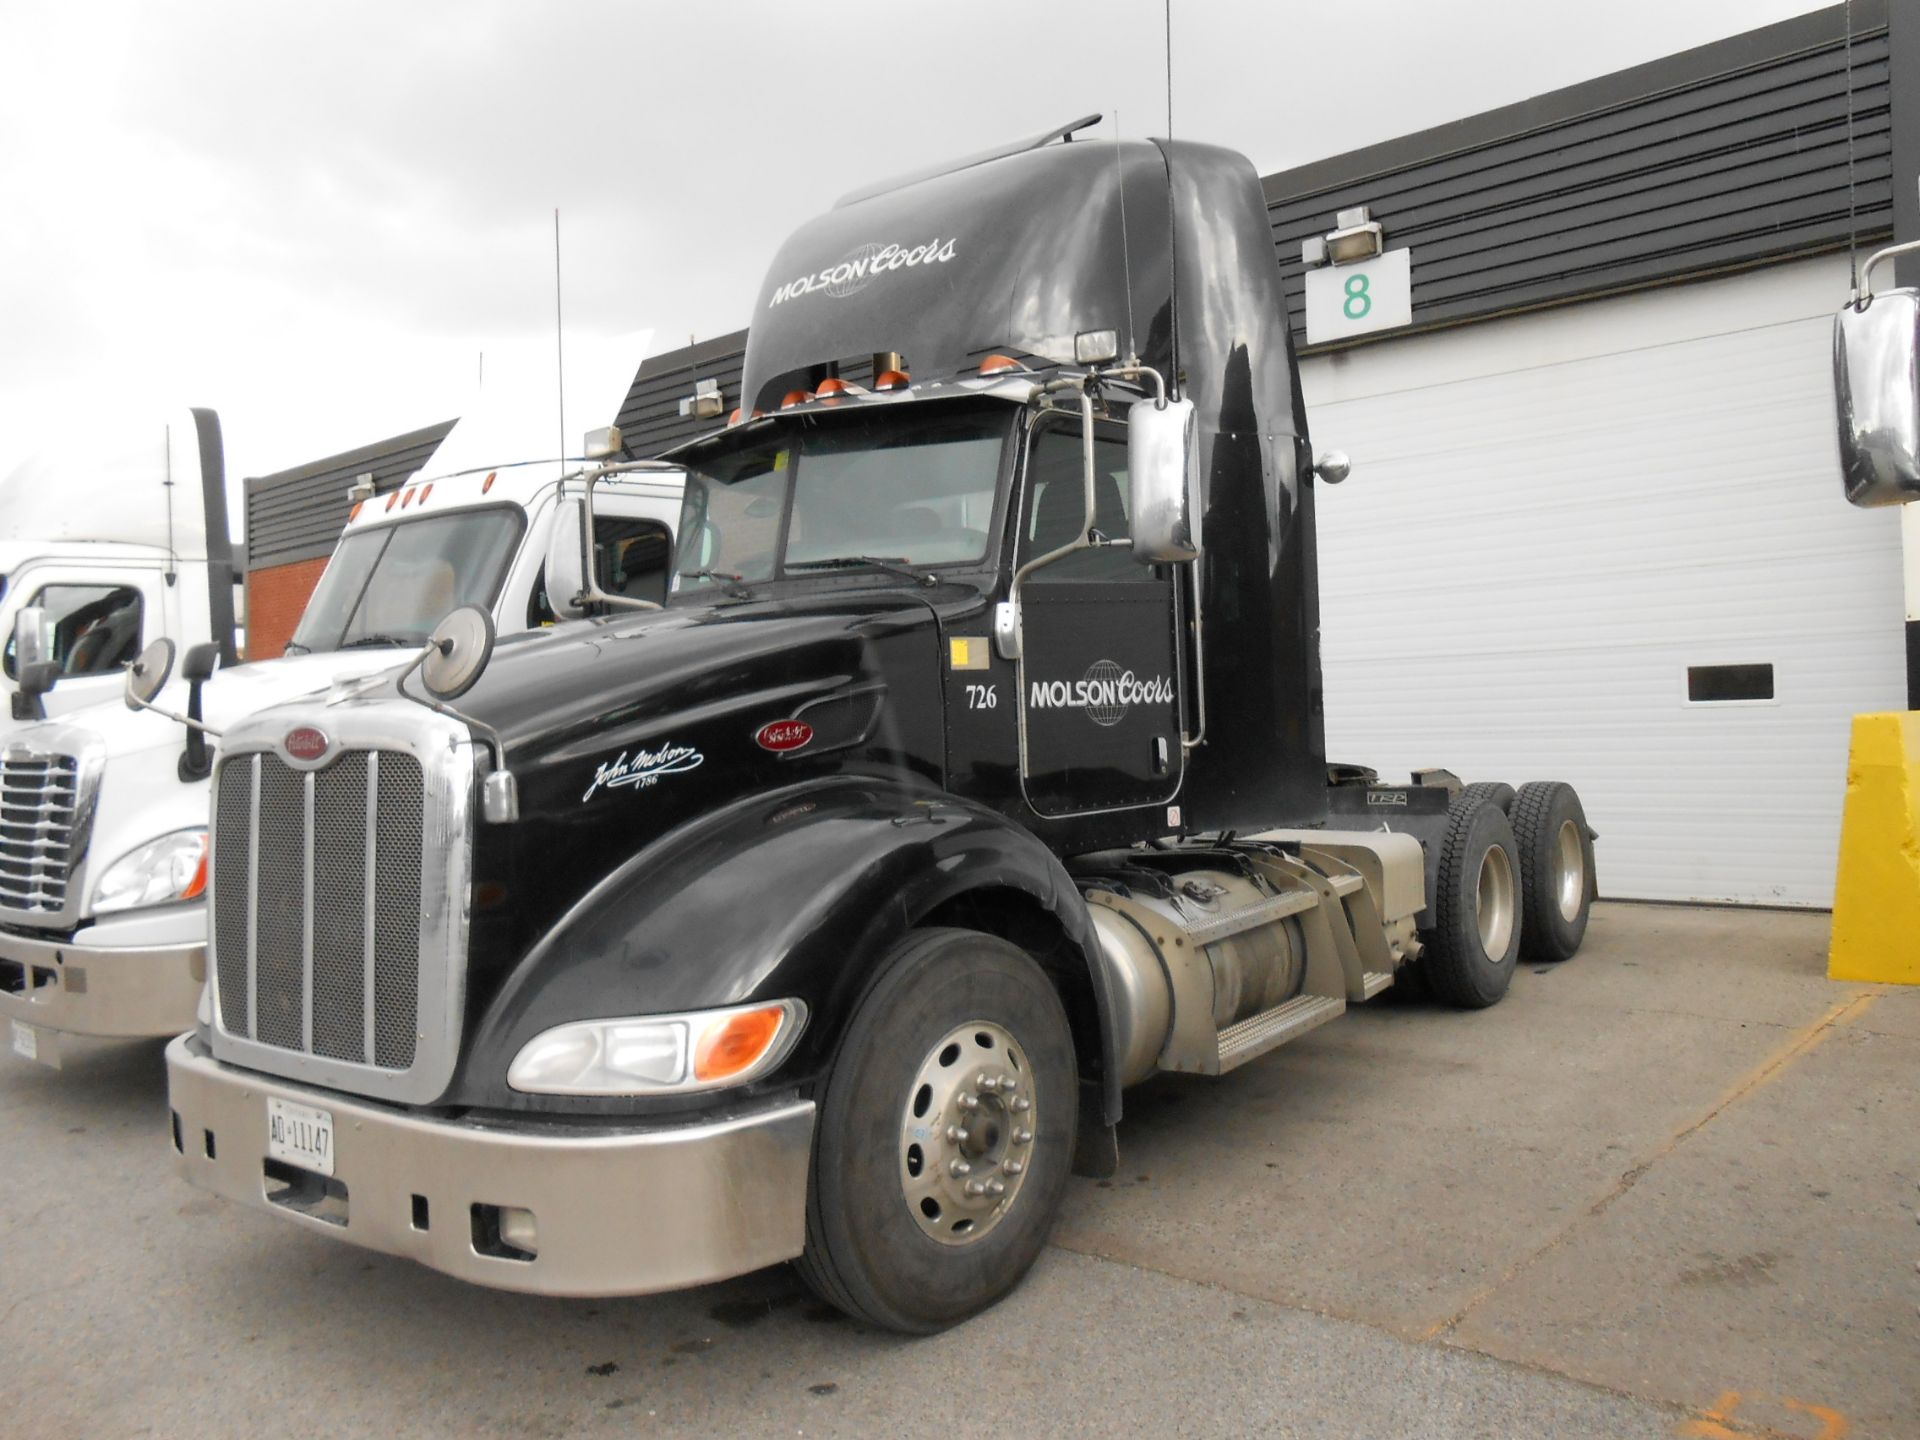
<path id="1" fill-rule="evenodd" d="M 21 1436 L 1920 1436 L 1920 993 L 1826 916 L 1605 904 L 1480 1014 L 1382 996 L 1129 1092 L 993 1313 L 864 1334 L 783 1269 L 463 1286 L 175 1181 L 159 1046 L 0 1062 Z M 1384 1002 L 1392 1000 L 1392 1002 Z"/>

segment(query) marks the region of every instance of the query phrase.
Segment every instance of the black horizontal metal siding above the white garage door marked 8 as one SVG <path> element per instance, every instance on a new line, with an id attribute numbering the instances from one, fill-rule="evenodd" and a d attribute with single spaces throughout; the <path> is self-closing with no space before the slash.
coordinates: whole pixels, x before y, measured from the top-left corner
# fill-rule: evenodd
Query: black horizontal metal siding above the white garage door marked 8
<path id="1" fill-rule="evenodd" d="M 1296 342 L 1300 242 L 1352 205 L 1413 250 L 1415 328 L 1836 250 L 1849 227 L 1884 238 L 1885 4 L 1853 17 L 1851 75 L 1836 6 L 1269 177 Z"/>

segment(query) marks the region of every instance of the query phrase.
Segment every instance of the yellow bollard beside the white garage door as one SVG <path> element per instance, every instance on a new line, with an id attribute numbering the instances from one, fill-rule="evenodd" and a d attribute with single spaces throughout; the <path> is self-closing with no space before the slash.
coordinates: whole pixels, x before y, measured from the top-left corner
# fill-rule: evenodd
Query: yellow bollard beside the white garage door
<path id="1" fill-rule="evenodd" d="M 1920 985 L 1920 710 L 1853 716 L 1826 973 Z"/>

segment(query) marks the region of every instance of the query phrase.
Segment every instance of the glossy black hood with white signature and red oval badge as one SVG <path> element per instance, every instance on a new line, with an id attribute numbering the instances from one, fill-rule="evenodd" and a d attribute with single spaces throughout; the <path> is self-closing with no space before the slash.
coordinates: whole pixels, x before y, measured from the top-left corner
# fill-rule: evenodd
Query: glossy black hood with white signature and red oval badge
<path id="1" fill-rule="evenodd" d="M 972 589 L 945 593 L 979 607 Z M 609 856 L 739 797 L 849 774 L 941 787 L 939 655 L 935 607 L 889 588 L 672 607 L 501 641 L 459 699 L 499 732 L 520 793 L 516 824 L 474 831 L 476 991 Z"/>

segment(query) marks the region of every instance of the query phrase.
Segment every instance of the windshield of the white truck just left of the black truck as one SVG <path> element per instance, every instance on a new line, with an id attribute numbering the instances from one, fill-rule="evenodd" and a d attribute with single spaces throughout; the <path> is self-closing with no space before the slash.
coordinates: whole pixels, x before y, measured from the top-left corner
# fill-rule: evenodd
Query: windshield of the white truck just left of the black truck
<path id="1" fill-rule="evenodd" d="M 288 649 L 420 645 L 449 611 L 493 609 L 520 524 L 516 509 L 497 505 L 348 536 Z"/>

